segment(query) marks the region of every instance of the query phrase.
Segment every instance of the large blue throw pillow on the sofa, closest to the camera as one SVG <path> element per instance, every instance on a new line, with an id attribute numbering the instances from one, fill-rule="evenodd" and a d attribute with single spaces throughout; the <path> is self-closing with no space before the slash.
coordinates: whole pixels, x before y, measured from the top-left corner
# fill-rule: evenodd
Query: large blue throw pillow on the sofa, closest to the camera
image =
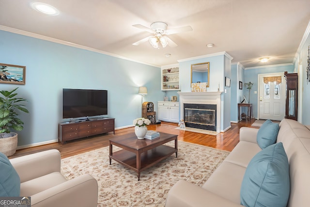
<path id="1" fill-rule="evenodd" d="M 283 144 L 272 144 L 249 162 L 241 184 L 241 205 L 286 207 L 289 195 L 289 162 Z"/>

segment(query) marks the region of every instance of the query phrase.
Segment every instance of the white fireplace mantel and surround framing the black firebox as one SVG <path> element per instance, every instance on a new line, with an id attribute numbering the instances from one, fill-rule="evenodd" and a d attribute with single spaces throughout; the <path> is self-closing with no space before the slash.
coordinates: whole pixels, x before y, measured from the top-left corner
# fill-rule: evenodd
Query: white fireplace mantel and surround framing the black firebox
<path id="1" fill-rule="evenodd" d="M 221 129 L 221 94 L 222 91 L 214 92 L 178 92 L 180 99 L 180 119 L 184 119 L 184 104 L 216 104 L 217 105 L 217 132 Z"/>

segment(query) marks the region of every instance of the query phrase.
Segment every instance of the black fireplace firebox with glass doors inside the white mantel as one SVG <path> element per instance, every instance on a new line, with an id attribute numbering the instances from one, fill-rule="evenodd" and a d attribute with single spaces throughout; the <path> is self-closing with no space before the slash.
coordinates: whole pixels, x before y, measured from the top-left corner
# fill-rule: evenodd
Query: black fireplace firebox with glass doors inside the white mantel
<path id="1" fill-rule="evenodd" d="M 186 127 L 217 131 L 217 105 L 185 103 L 183 108 Z"/>

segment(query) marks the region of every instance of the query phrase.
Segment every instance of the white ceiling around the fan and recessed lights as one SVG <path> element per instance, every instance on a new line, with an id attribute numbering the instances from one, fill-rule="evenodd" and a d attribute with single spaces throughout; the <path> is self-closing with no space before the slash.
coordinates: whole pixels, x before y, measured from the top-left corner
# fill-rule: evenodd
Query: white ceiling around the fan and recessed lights
<path id="1" fill-rule="evenodd" d="M 293 63 L 310 20 L 310 0 L 40 0 L 59 16 L 33 10 L 32 2 L 0 0 L 0 25 L 156 66 L 223 51 L 245 67 Z M 132 25 L 155 21 L 193 31 L 169 35 L 175 48 L 132 45 L 150 35 Z"/>

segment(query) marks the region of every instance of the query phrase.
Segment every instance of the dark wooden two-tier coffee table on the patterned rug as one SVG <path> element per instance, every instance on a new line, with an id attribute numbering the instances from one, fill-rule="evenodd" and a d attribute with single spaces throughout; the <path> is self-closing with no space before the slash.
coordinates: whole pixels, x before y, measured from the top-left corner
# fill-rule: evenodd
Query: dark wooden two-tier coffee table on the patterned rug
<path id="1" fill-rule="evenodd" d="M 174 140 L 174 148 L 163 145 Z M 122 148 L 113 152 L 113 145 Z M 109 139 L 109 161 L 111 159 L 140 173 L 145 169 L 155 165 L 163 159 L 168 158 L 173 153 L 178 157 L 178 136 L 160 132 L 160 136 L 154 140 L 139 140 L 135 133 L 125 135 L 114 135 Z"/>

